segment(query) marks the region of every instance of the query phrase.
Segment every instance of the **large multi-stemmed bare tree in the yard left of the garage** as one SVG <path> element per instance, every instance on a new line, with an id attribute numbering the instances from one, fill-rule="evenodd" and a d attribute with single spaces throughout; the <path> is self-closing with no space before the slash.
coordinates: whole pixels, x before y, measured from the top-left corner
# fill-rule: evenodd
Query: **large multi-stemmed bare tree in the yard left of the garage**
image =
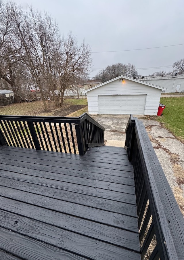
<path id="1" fill-rule="evenodd" d="M 90 48 L 85 42 L 78 46 L 68 34 L 61 39 L 57 24 L 49 14 L 26 12 L 10 3 L 14 20 L 14 45 L 40 90 L 44 101 L 51 95 L 55 106 L 63 104 L 64 91 L 75 80 L 86 77 L 91 66 Z"/>

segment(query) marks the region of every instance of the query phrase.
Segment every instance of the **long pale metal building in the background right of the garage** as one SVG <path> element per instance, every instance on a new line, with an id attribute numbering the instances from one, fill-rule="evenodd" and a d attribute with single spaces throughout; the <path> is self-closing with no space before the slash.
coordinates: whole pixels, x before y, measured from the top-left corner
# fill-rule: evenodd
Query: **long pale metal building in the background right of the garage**
<path id="1" fill-rule="evenodd" d="M 144 81 L 153 85 L 164 87 L 167 90 L 162 90 L 162 93 L 184 92 L 184 74 L 181 75 L 166 75 L 154 77 L 142 77 L 140 81 Z"/>

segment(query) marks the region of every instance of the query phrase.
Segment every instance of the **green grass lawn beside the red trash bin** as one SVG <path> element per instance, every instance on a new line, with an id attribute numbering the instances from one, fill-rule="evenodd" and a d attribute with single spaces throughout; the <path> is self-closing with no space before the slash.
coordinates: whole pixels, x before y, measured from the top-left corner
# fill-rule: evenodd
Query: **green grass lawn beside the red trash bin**
<path id="1" fill-rule="evenodd" d="M 178 139 L 184 141 L 184 97 L 160 98 L 160 103 L 166 105 L 163 116 L 156 120 L 163 123 Z"/>

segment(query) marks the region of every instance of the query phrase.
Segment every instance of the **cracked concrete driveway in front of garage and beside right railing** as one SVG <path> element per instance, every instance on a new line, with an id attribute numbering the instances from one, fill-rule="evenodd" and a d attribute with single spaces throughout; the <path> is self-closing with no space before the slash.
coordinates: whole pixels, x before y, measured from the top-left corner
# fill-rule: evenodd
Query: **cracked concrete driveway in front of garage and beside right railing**
<path id="1" fill-rule="evenodd" d="M 105 127 L 105 140 L 125 141 L 125 128 L 129 116 L 95 115 L 92 116 Z M 175 198 L 184 215 L 184 144 L 154 120 L 137 116 L 143 121 L 162 169 L 167 177 Z"/>

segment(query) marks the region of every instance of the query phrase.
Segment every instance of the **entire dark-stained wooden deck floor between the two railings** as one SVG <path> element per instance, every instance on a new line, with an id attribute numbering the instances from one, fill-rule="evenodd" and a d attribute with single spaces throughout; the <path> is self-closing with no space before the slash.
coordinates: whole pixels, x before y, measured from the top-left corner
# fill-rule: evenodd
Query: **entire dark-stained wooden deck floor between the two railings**
<path id="1" fill-rule="evenodd" d="M 124 148 L 84 156 L 0 147 L 0 259 L 140 259 Z"/>

